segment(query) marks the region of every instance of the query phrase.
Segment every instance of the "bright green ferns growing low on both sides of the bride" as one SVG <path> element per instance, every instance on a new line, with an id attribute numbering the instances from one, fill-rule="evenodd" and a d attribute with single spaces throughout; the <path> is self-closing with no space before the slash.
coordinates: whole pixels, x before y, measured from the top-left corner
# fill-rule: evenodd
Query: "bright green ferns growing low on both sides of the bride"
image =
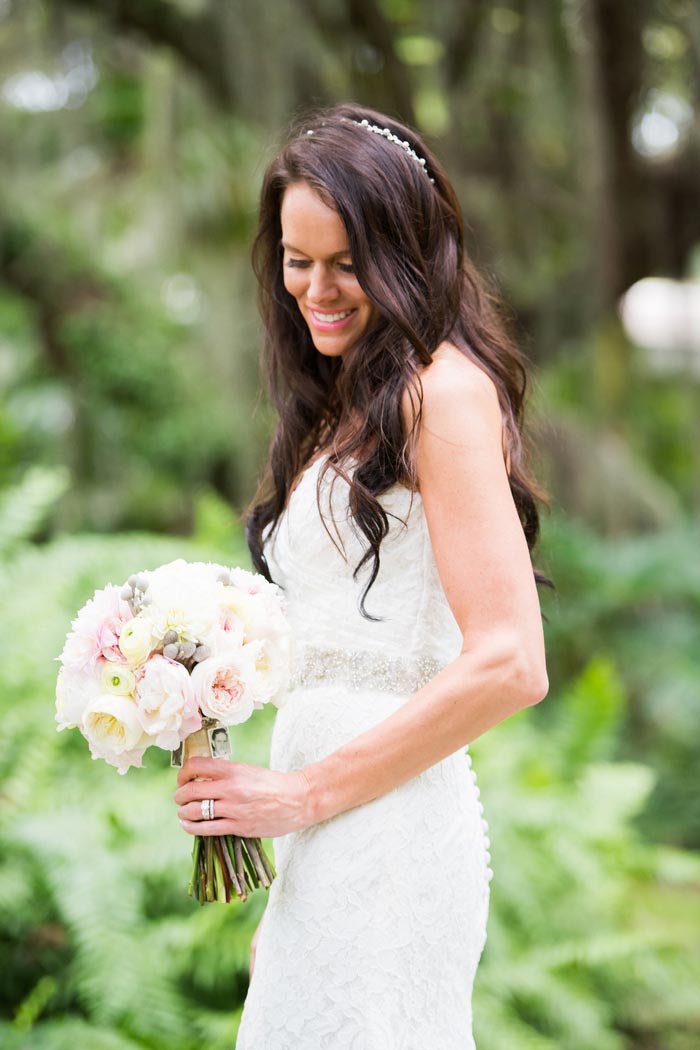
<path id="1" fill-rule="evenodd" d="M 217 540 L 220 513 L 208 503 L 198 516 Z M 247 564 L 239 541 L 86 534 L 26 545 L 2 568 L 13 598 L 0 612 L 3 1046 L 233 1044 L 263 895 L 197 907 L 166 756 L 116 777 L 52 722 L 51 656 L 70 616 L 94 587 L 173 556 Z M 700 870 L 635 830 L 654 776 L 614 758 L 627 702 L 601 655 L 470 749 L 495 872 L 474 998 L 483 1050 L 632 1050 L 661 1038 L 691 1050 L 700 1034 L 700 959 L 676 919 Z M 267 763 L 260 714 L 234 748 Z"/>

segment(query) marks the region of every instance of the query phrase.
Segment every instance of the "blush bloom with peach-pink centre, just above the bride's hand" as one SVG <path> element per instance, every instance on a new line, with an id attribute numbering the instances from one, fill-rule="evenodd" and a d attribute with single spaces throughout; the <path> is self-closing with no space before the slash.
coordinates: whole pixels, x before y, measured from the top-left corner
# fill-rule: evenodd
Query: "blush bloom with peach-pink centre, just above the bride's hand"
<path id="1" fill-rule="evenodd" d="M 191 680 L 203 714 L 225 726 L 246 721 L 255 710 L 255 663 L 242 650 L 201 660 Z"/>

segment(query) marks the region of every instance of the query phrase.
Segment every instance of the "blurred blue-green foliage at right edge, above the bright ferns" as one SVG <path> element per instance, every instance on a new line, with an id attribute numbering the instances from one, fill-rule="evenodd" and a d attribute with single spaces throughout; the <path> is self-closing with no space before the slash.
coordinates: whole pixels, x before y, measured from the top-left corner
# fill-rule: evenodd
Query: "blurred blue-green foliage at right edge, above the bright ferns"
<path id="1" fill-rule="evenodd" d="M 606 540 L 552 516 L 543 553 L 557 591 L 544 600 L 555 695 L 592 655 L 624 684 L 618 754 L 657 774 L 641 825 L 670 844 L 698 847 L 700 791 L 700 527 Z"/>

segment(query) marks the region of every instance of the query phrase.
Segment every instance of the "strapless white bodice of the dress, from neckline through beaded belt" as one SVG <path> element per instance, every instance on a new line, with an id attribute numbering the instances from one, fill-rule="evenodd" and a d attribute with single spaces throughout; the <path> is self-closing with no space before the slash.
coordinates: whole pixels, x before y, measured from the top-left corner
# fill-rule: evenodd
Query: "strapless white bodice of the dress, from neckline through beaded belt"
<path id="1" fill-rule="evenodd" d="M 297 648 L 295 681 L 336 675 L 351 685 L 411 691 L 451 663 L 462 633 L 445 597 L 419 492 L 395 484 L 379 498 L 389 519 L 380 568 L 362 615 L 372 562 L 354 579 L 366 540 L 352 519 L 347 482 L 324 458 L 306 468 L 288 508 L 263 534 L 275 583 L 283 590 Z M 352 467 L 351 467 L 352 471 Z"/>

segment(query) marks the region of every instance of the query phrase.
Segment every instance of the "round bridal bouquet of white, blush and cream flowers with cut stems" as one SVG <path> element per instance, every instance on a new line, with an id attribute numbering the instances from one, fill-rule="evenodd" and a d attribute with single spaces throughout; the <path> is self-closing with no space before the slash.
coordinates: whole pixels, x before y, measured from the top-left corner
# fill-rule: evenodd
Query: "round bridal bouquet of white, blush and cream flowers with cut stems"
<path id="1" fill-rule="evenodd" d="M 120 773 L 155 746 L 171 764 L 231 754 L 229 727 L 281 706 L 292 637 L 279 589 L 240 568 L 183 559 L 98 590 L 71 623 L 56 688 L 58 729 L 79 729 Z M 203 802 L 203 815 L 206 817 Z M 196 836 L 189 892 L 247 899 L 275 870 L 260 839 Z"/>

